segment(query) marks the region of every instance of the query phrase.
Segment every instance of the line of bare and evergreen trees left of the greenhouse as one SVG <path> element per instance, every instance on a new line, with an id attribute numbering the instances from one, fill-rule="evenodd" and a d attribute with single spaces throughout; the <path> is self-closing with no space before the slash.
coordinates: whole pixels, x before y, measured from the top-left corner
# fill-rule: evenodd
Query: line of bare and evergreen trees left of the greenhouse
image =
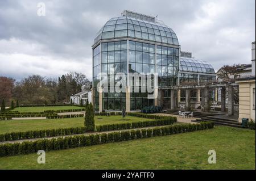
<path id="1" fill-rule="evenodd" d="M 69 103 L 70 96 L 89 90 L 92 82 L 82 73 L 72 72 L 57 79 L 41 75 L 30 75 L 20 81 L 0 77 L 0 104 L 5 99 L 6 106 L 18 100 L 19 104 L 63 104 Z"/>

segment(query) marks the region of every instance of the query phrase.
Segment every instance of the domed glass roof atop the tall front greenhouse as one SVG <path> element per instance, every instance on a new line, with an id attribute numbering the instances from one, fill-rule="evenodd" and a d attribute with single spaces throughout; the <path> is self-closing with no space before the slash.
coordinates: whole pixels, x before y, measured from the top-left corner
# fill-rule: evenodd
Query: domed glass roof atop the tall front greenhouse
<path id="1" fill-rule="evenodd" d="M 179 45 L 175 32 L 163 23 L 121 16 L 112 18 L 97 33 L 94 44 L 99 40 L 132 37 L 164 44 Z"/>

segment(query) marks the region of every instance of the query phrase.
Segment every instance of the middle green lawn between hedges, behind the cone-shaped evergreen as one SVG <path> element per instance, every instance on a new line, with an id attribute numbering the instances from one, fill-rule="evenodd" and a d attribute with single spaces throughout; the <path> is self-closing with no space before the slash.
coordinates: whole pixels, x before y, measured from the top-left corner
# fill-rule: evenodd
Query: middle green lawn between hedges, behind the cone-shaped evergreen
<path id="1" fill-rule="evenodd" d="M 122 120 L 122 116 L 95 116 L 96 125 L 127 123 L 142 120 L 152 120 L 135 116 L 126 116 Z M 0 121 L 0 134 L 6 132 L 24 132 L 40 129 L 57 129 L 84 127 L 84 117 L 67 118 L 67 119 L 44 119 L 44 120 L 10 120 Z"/>

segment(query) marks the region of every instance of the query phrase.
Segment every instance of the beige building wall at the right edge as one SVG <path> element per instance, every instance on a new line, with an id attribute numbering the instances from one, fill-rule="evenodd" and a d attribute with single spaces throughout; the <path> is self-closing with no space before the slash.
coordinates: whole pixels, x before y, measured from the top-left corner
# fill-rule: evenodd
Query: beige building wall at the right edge
<path id="1" fill-rule="evenodd" d="M 239 121 L 249 118 L 255 121 L 255 110 L 253 110 L 253 88 L 255 81 L 241 81 L 239 84 Z"/>

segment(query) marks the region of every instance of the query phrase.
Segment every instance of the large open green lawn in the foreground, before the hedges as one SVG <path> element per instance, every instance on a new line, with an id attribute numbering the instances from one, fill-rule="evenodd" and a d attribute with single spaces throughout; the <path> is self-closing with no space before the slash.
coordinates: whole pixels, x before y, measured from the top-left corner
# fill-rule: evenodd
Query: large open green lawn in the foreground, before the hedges
<path id="1" fill-rule="evenodd" d="M 208 163 L 214 149 L 217 163 Z M 214 129 L 0 158 L 0 169 L 255 169 L 255 131 Z"/>

